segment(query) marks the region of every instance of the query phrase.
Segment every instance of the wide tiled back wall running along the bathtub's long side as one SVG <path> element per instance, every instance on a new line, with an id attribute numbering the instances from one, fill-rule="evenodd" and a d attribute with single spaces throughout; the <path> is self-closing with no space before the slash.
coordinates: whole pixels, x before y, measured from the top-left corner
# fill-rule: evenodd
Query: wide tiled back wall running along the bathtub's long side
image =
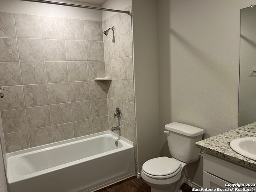
<path id="1" fill-rule="evenodd" d="M 108 130 L 102 22 L 0 13 L 7 152 Z"/>

